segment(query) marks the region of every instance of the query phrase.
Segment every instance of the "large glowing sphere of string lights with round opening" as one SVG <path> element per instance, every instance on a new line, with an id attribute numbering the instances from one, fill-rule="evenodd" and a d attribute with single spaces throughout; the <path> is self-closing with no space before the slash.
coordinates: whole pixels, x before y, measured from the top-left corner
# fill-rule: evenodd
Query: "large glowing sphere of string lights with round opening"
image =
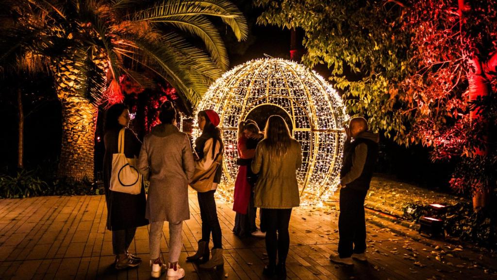
<path id="1" fill-rule="evenodd" d="M 268 105 L 286 112 L 292 135 L 302 146 L 302 166 L 297 170 L 301 201 L 326 200 L 339 182 L 343 125 L 348 117 L 340 97 L 321 76 L 301 64 L 277 58 L 252 60 L 226 72 L 196 108 L 196 113 L 213 109 L 221 118 L 225 154 L 218 190 L 224 197 L 233 197 L 238 124 L 256 108 Z M 199 133 L 194 131 L 194 136 Z"/>

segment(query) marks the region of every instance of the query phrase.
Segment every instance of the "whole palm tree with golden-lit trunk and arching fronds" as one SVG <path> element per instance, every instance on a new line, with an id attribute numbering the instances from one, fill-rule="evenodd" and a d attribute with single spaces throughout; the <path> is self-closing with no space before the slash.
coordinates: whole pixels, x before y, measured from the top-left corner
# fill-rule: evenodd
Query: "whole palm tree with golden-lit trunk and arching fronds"
<path id="1" fill-rule="evenodd" d="M 98 106 L 119 99 L 123 74 L 141 84 L 145 79 L 136 70 L 147 69 L 175 87 L 184 102 L 195 105 L 229 64 L 218 29 L 209 18 L 220 18 L 239 41 L 248 30 L 242 13 L 226 0 L 12 0 L 4 4 L 16 23 L 1 38 L 0 62 L 28 50 L 44 59 L 53 73 L 63 119 L 58 176 L 72 180 L 93 179 Z M 203 46 L 191 43 L 191 38 L 200 38 Z"/>

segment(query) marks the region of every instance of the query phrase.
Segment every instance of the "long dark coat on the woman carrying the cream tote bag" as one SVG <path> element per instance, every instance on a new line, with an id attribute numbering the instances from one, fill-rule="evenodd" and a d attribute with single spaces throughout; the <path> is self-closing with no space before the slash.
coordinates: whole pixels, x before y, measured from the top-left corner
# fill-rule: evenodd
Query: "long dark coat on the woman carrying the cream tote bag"
<path id="1" fill-rule="evenodd" d="M 149 224 L 145 218 L 145 188 L 140 194 L 127 194 L 109 190 L 112 171 L 112 154 L 118 152 L 119 129 L 105 133 L 105 155 L 103 157 L 103 181 L 107 202 L 107 229 L 123 230 Z M 142 143 L 135 133 L 126 129 L 124 133 L 124 154 L 128 158 L 138 157 Z"/>

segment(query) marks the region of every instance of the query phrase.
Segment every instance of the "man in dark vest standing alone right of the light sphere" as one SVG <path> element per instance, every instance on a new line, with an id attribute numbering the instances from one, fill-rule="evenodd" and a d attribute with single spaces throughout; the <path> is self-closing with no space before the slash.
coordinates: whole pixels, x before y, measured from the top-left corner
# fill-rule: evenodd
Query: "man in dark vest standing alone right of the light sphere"
<path id="1" fill-rule="evenodd" d="M 338 254 L 334 263 L 353 265 L 352 258 L 366 261 L 366 221 L 364 199 L 378 157 L 378 134 L 368 131 L 364 118 L 353 118 L 345 129 L 347 140 L 340 172 L 340 216 L 338 217 Z"/>

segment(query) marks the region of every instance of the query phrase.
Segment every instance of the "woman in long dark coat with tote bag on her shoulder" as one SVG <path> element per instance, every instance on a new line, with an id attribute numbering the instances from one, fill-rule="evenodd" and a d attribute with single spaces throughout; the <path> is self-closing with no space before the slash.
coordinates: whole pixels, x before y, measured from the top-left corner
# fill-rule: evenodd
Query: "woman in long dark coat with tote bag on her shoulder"
<path id="1" fill-rule="evenodd" d="M 139 266 L 140 258 L 131 255 L 128 248 L 135 238 L 137 227 L 148 225 L 145 218 L 145 188 L 140 194 L 128 194 L 110 190 L 112 172 L 112 154 L 118 153 L 118 138 L 121 129 L 124 131 L 124 154 L 128 158 L 138 156 L 142 143 L 135 133 L 128 129 L 130 123 L 129 110 L 122 103 L 112 105 L 105 114 L 103 141 L 105 154 L 103 157 L 103 181 L 105 201 L 107 203 L 107 229 L 112 231 L 112 250 L 115 268 L 118 270 Z"/>

